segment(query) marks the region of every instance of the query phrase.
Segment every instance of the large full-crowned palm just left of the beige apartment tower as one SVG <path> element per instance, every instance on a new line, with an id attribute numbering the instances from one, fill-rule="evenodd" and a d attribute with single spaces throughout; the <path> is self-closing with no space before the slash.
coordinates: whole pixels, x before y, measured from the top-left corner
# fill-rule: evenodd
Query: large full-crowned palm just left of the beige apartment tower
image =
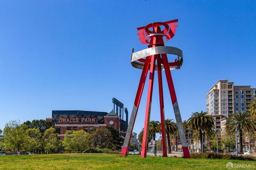
<path id="1" fill-rule="evenodd" d="M 193 131 L 193 136 L 195 138 L 200 137 L 200 142 L 203 142 L 203 133 L 206 138 L 211 139 L 214 135 L 214 119 L 207 112 L 201 111 L 200 113 L 195 112 L 191 115 L 188 120 L 189 126 Z M 201 152 L 203 151 L 203 145 L 201 145 Z"/>

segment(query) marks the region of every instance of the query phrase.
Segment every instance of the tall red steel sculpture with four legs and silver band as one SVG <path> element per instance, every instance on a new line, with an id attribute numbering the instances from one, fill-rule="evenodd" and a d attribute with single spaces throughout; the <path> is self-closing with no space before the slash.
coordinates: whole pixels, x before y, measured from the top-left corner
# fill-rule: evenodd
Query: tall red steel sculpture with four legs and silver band
<path id="1" fill-rule="evenodd" d="M 169 87 L 172 105 L 174 109 L 175 119 L 178 124 L 178 130 L 181 139 L 181 145 L 183 149 L 183 154 L 185 158 L 190 158 L 188 145 L 182 125 L 180 109 L 175 94 L 172 75 L 170 70 L 180 69 L 183 63 L 182 50 L 175 47 L 164 46 L 165 41 L 171 39 L 175 34 L 175 29 L 178 27 L 176 24 L 178 20 L 166 21 L 166 22 L 154 22 L 148 24 L 146 27 L 137 28 L 140 42 L 142 44 L 149 44 L 147 49 L 140 50 L 139 52 L 133 51 L 131 64 L 137 69 L 142 69 L 142 74 L 140 78 L 139 87 L 135 97 L 131 118 L 129 126 L 126 131 L 126 136 L 124 140 L 124 145 L 122 148 L 121 155 L 127 155 L 127 148 L 129 146 L 131 133 L 133 130 L 134 122 L 137 116 L 137 112 L 140 105 L 140 99 L 147 78 L 149 70 L 149 82 L 148 82 L 148 96 L 147 96 L 147 105 L 146 105 L 146 115 L 143 131 L 143 141 L 142 141 L 142 150 L 141 157 L 147 156 L 147 143 L 148 143 L 148 124 L 150 120 L 150 109 L 151 109 L 151 99 L 153 91 L 153 82 L 154 82 L 154 72 L 157 70 L 158 74 L 158 87 L 159 87 L 159 100 L 160 100 L 160 114 L 161 114 L 161 127 L 162 127 L 162 144 L 163 144 L 163 156 L 167 156 L 166 152 L 166 134 L 164 126 L 164 99 L 163 99 L 163 84 L 162 84 L 162 70 L 164 70 L 167 84 Z M 177 56 L 174 62 L 169 62 L 167 59 L 167 54 L 172 54 Z M 157 61 L 157 64 L 156 64 Z"/>

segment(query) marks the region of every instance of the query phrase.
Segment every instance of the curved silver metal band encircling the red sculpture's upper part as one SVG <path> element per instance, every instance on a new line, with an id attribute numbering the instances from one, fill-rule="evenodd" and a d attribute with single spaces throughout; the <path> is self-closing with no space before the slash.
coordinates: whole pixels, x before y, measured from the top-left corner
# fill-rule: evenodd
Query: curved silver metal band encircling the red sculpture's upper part
<path id="1" fill-rule="evenodd" d="M 145 58 L 151 55 L 157 54 L 173 54 L 179 57 L 178 64 L 170 65 L 170 70 L 180 69 L 183 63 L 183 54 L 182 50 L 176 47 L 168 47 L 168 46 L 157 46 L 151 47 L 147 49 L 140 50 L 139 52 L 132 53 L 131 64 L 133 67 L 137 69 L 143 69 L 144 63 L 138 62 L 141 58 Z M 162 70 L 164 69 L 163 65 L 161 66 Z M 157 64 L 155 64 L 155 70 L 157 70 Z"/>

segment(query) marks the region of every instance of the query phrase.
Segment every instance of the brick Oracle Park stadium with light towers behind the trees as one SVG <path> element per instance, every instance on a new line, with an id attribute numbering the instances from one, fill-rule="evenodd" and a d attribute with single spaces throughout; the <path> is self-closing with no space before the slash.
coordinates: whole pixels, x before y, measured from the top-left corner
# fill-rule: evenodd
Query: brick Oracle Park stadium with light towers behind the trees
<path id="1" fill-rule="evenodd" d="M 84 130 L 89 132 L 95 128 L 106 128 L 112 126 L 125 137 L 128 126 L 128 111 L 123 103 L 113 98 L 114 109 L 111 112 L 95 111 L 52 111 L 52 117 L 46 121 L 54 123 L 58 138 L 63 140 L 67 130 Z M 125 114 L 125 120 L 124 120 Z"/>

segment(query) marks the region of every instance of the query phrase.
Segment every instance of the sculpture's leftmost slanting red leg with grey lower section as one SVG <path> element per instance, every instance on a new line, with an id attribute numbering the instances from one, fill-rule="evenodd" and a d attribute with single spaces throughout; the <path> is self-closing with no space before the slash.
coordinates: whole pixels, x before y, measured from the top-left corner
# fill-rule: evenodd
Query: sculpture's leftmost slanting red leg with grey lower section
<path id="1" fill-rule="evenodd" d="M 143 88 L 144 88 L 144 85 L 145 85 L 145 81 L 146 81 L 146 78 L 147 78 L 148 68 L 149 68 L 149 62 L 146 62 L 144 67 L 143 67 L 142 73 L 141 73 L 139 87 L 138 87 L 137 94 L 136 94 L 136 97 L 135 97 L 135 100 L 134 100 L 134 105 L 133 105 L 133 108 L 132 108 L 132 113 L 131 113 L 129 125 L 128 125 L 127 131 L 126 131 L 124 145 L 123 145 L 122 152 L 121 152 L 122 156 L 127 155 L 127 149 L 128 149 L 128 146 L 129 146 L 129 142 L 130 142 L 130 139 L 131 139 L 131 134 L 132 134 L 134 122 L 135 122 L 137 112 L 138 112 L 138 108 L 139 108 L 139 105 L 140 105 L 141 95 L 142 95 Z"/>

